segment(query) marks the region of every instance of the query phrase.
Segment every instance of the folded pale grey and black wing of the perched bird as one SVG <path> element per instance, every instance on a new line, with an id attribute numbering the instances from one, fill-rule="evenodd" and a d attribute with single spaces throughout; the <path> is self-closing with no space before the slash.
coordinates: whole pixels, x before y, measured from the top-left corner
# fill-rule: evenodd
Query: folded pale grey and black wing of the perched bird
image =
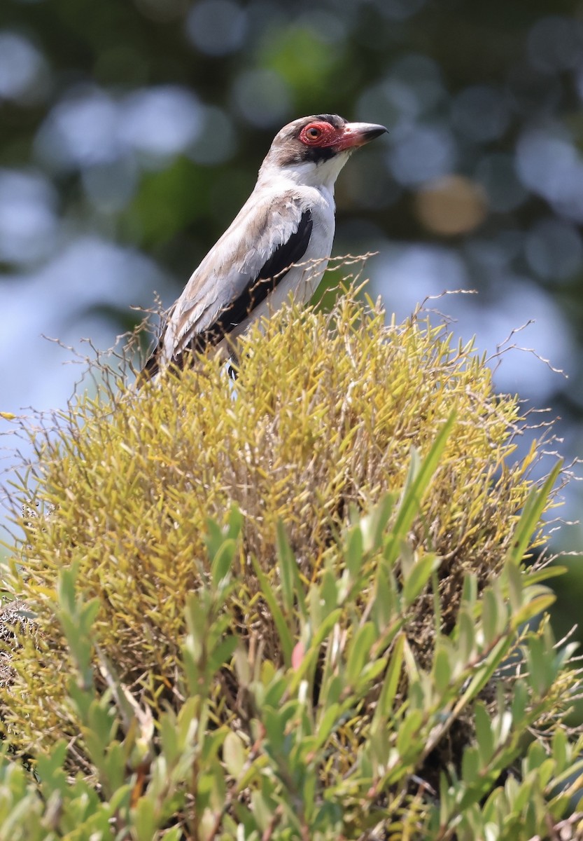
<path id="1" fill-rule="evenodd" d="M 160 336 L 164 362 L 227 335 L 302 261 L 313 219 L 299 198 L 251 196 L 176 301 Z M 268 281 L 269 283 L 261 283 Z"/>

